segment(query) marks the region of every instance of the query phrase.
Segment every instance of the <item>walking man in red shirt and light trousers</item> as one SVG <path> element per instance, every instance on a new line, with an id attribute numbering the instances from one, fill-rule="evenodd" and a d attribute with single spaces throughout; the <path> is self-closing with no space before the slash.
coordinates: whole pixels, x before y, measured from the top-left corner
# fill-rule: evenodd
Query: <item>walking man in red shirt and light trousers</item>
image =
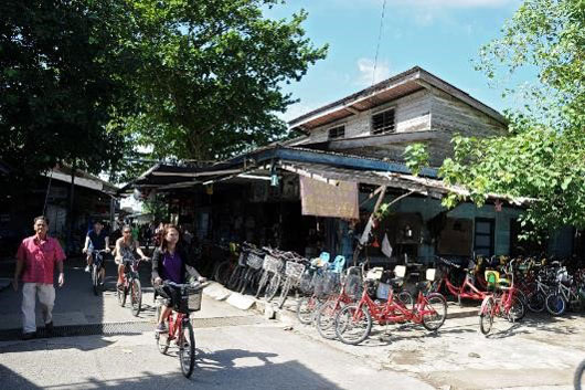
<path id="1" fill-rule="evenodd" d="M 63 286 L 63 261 L 65 253 L 57 240 L 46 235 L 49 220 L 45 217 L 34 219 L 34 232 L 36 234 L 24 239 L 17 253 L 17 271 L 12 285 L 14 291 L 19 288 L 19 277 L 22 273 L 22 338 L 31 339 L 36 333 L 35 302 L 43 312 L 45 329 L 49 334 L 53 331 L 53 305 L 55 303 L 55 287 L 53 286 L 53 271 L 55 264 L 59 270 L 59 286 Z"/>

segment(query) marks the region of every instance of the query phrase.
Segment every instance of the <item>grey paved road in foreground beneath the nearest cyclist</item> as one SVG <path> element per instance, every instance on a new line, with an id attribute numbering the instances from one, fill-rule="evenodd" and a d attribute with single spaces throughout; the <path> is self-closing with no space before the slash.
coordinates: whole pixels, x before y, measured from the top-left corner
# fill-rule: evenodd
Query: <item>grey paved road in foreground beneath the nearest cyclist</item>
<path id="1" fill-rule="evenodd" d="M 153 333 L 147 331 L 0 342 L 0 387 L 432 389 L 405 373 L 381 370 L 375 362 L 287 331 L 279 323 L 243 317 L 225 303 L 204 298 L 202 313 L 206 310 L 223 310 L 226 317 L 210 317 L 204 328 L 195 329 L 198 368 L 191 380 L 182 377 L 176 357 L 158 352 Z"/>

